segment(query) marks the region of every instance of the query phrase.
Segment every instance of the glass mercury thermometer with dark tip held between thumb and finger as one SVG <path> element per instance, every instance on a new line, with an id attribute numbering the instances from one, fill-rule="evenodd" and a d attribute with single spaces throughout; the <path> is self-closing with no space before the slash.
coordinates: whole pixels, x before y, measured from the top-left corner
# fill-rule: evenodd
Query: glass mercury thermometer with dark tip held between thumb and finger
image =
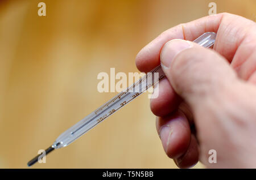
<path id="1" fill-rule="evenodd" d="M 203 46 L 204 48 L 209 48 L 215 42 L 216 33 L 214 32 L 206 32 L 200 37 L 196 38 L 193 42 Z M 59 149 L 65 147 L 72 142 L 74 142 L 77 138 L 85 134 L 85 132 L 89 131 L 91 128 L 95 127 L 106 118 L 110 117 L 113 113 L 117 112 L 119 109 L 125 107 L 129 102 L 133 101 L 143 92 L 145 92 L 148 88 L 154 86 L 159 80 L 165 77 L 162 67 L 159 65 L 155 67 L 153 70 L 144 75 L 142 78 L 137 80 L 130 87 L 126 88 L 122 92 L 118 93 L 118 95 L 114 96 L 112 99 L 107 101 L 105 104 L 101 105 L 98 109 L 94 110 L 94 112 L 87 115 L 84 119 L 77 122 L 74 126 L 70 127 L 67 131 L 63 132 L 55 142 L 46 149 L 44 153 L 32 158 L 31 161 L 27 163 L 28 166 L 35 164 L 38 160 L 40 160 L 43 156 L 46 156 L 49 152 L 54 149 Z M 158 74 L 158 78 L 154 78 L 154 75 Z M 148 83 L 147 79 L 151 79 L 151 83 Z"/>

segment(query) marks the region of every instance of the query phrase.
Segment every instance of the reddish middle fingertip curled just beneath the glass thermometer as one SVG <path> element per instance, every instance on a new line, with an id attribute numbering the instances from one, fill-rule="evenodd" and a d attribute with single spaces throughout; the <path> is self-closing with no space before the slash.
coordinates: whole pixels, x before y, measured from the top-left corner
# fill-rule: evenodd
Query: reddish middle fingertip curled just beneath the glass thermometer
<path id="1" fill-rule="evenodd" d="M 159 95 L 150 100 L 151 112 L 156 116 L 163 117 L 177 109 L 180 97 L 176 95 L 168 79 L 164 78 L 159 82 Z M 153 95 L 154 96 L 154 95 Z"/>

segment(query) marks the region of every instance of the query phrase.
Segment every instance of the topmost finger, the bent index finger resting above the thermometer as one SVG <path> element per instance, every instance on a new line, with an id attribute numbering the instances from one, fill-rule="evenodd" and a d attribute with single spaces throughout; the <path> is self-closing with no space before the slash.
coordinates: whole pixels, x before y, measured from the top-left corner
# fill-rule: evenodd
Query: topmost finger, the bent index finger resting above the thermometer
<path id="1" fill-rule="evenodd" d="M 142 72 L 148 72 L 158 66 L 159 54 L 166 42 L 175 38 L 193 41 L 209 31 L 217 33 L 213 49 L 232 62 L 231 65 L 237 70 L 238 76 L 249 79 L 256 69 L 256 64 L 251 61 L 245 67 L 241 66 L 247 59 L 254 59 L 251 52 L 255 52 L 256 23 L 228 13 L 205 16 L 164 31 L 138 53 L 137 68 Z"/>

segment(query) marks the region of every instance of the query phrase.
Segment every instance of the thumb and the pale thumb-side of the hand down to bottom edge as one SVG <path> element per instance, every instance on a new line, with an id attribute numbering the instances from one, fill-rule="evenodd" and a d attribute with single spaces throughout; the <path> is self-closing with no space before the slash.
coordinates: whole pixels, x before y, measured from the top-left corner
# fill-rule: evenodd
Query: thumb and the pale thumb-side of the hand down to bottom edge
<path id="1" fill-rule="evenodd" d="M 183 43 L 169 42 L 160 57 L 171 61 L 163 71 L 192 107 L 200 160 L 208 168 L 255 167 L 255 85 L 239 79 L 221 55 L 199 45 L 168 54 L 175 53 L 177 42 Z M 217 152 L 217 164 L 209 164 L 211 149 Z"/>

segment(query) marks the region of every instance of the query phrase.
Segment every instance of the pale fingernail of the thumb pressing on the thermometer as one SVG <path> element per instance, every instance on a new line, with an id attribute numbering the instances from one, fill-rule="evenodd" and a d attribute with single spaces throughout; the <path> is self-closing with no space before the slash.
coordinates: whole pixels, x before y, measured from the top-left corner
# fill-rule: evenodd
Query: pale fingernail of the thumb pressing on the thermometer
<path id="1" fill-rule="evenodd" d="M 166 42 L 160 54 L 161 65 L 164 68 L 169 68 L 172 59 L 185 49 L 191 48 L 192 43 L 185 40 L 171 40 Z"/>

